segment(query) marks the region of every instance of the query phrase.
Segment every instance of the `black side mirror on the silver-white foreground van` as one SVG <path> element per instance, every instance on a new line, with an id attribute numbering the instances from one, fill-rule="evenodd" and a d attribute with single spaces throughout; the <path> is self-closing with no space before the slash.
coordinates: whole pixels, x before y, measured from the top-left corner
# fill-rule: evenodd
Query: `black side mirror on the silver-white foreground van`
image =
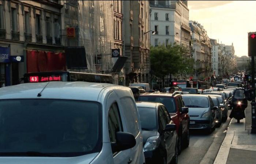
<path id="1" fill-rule="evenodd" d="M 116 132 L 116 142 L 111 143 L 112 152 L 130 149 L 136 145 L 133 134 L 127 132 Z"/>

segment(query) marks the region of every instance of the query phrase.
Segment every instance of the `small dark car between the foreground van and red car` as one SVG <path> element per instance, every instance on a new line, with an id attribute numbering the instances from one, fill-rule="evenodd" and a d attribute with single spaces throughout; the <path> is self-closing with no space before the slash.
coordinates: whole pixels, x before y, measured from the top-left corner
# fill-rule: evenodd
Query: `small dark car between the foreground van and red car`
<path id="1" fill-rule="evenodd" d="M 177 164 L 178 134 L 165 106 L 157 102 L 137 102 L 136 105 L 142 126 L 146 164 Z"/>

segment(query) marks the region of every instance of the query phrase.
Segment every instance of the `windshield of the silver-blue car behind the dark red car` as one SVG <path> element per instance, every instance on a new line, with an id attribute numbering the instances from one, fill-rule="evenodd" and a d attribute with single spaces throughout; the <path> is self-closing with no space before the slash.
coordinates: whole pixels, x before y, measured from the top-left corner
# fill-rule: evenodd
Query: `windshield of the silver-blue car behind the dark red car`
<path id="1" fill-rule="evenodd" d="M 209 101 L 207 97 L 184 96 L 182 97 L 185 106 L 188 108 L 208 108 Z"/>

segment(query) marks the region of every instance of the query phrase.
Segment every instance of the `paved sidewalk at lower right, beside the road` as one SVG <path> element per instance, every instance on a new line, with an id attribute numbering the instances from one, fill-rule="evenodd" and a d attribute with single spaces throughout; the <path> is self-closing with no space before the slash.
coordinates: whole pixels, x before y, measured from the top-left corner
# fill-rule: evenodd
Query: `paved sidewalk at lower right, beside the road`
<path id="1" fill-rule="evenodd" d="M 251 134 L 251 102 L 245 109 L 246 119 L 237 123 L 232 119 L 226 137 L 217 154 L 214 164 L 255 164 L 256 134 Z"/>

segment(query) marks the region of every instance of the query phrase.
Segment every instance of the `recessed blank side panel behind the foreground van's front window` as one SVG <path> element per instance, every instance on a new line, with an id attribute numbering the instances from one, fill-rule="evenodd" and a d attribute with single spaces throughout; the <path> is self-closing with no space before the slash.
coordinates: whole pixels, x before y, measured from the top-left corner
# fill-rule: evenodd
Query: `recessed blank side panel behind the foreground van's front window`
<path id="1" fill-rule="evenodd" d="M 121 98 L 121 104 L 124 110 L 125 122 L 127 124 L 127 130 L 129 133 L 132 133 L 134 136 L 137 136 L 139 133 L 139 124 L 138 124 L 138 110 L 136 104 L 134 104 L 131 98 Z"/>

